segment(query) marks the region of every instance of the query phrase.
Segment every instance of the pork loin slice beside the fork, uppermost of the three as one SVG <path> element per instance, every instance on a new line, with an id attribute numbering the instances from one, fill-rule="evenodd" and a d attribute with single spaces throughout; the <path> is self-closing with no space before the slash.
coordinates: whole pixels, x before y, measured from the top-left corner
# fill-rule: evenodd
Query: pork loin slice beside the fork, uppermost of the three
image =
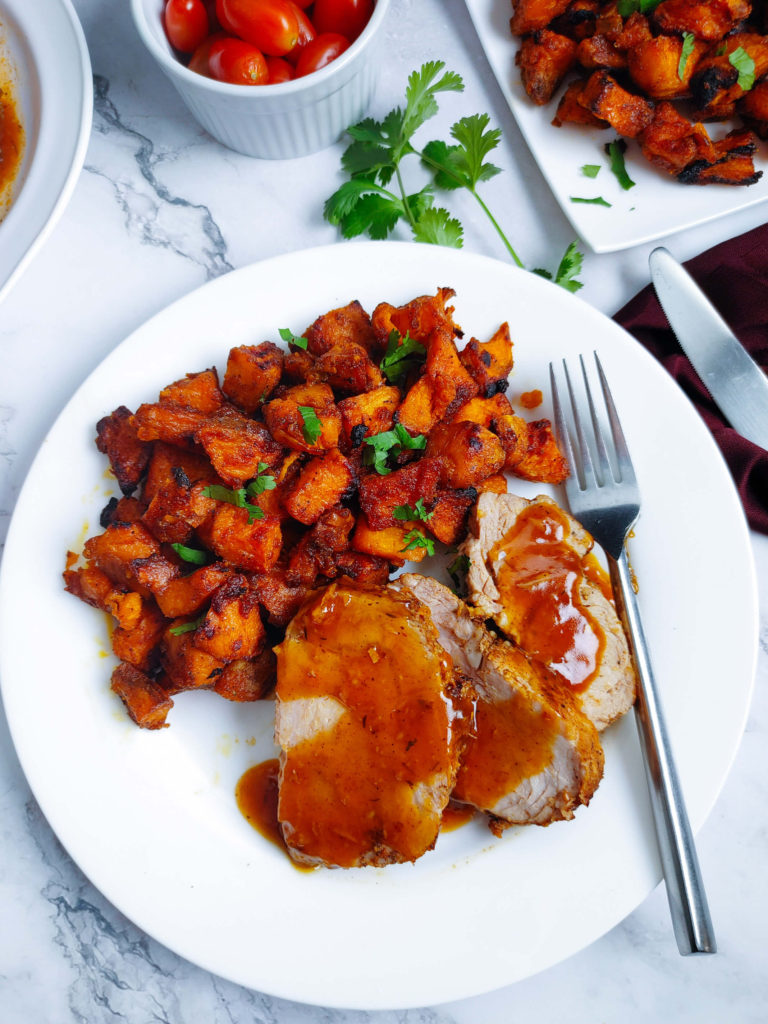
<path id="1" fill-rule="evenodd" d="M 593 546 L 551 498 L 483 494 L 461 550 L 472 603 L 551 669 L 602 730 L 634 703 L 636 678 L 606 585 L 586 560 Z"/>

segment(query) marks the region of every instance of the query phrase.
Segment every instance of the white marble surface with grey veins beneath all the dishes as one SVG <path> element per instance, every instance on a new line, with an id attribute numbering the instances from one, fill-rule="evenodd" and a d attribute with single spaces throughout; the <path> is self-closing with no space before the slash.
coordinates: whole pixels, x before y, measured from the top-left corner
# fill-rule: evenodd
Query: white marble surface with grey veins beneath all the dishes
<path id="1" fill-rule="evenodd" d="M 85 168 L 60 222 L 0 308 L 0 540 L 46 431 L 83 378 L 169 302 L 233 267 L 333 242 L 322 217 L 341 146 L 292 163 L 229 153 L 193 122 L 142 51 L 118 0 L 75 0 L 95 76 Z M 552 266 L 571 239 L 484 61 L 461 0 L 393 0 L 374 113 L 407 74 L 440 57 L 465 78 L 435 123 L 487 110 L 504 129 L 486 188 L 528 265 Z M 435 131 L 437 134 L 437 131 Z M 468 203 L 466 245 L 504 258 Z M 761 223 L 765 207 L 666 243 L 681 258 Z M 612 313 L 647 282 L 640 247 L 588 255 L 582 296 Z M 0 1020 L 3 1024 L 361 1021 L 719 1022 L 768 1019 L 768 539 L 754 536 L 761 651 L 746 733 L 698 837 L 720 952 L 682 958 L 656 890 L 566 963 L 498 992 L 408 1012 L 329 1011 L 239 988 L 179 959 L 115 910 L 42 817 L 0 724 Z M 34 552 L 31 553 L 34 571 Z M 727 637 L 714 638 L 727 643 Z M 724 680 L 723 699 L 727 699 Z M 513 927 L 514 923 L 510 923 Z M 456 969 L 461 969 L 460 965 Z"/>

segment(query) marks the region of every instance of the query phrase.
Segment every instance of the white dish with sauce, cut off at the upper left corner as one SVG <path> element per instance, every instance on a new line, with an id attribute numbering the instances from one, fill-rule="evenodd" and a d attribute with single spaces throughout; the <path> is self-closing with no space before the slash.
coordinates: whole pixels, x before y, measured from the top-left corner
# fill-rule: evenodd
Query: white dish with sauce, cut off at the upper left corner
<path id="1" fill-rule="evenodd" d="M 70 0 L 0 0 L 0 50 L 15 70 L 27 136 L 0 222 L 0 301 L 63 212 L 85 159 L 93 83 Z"/>

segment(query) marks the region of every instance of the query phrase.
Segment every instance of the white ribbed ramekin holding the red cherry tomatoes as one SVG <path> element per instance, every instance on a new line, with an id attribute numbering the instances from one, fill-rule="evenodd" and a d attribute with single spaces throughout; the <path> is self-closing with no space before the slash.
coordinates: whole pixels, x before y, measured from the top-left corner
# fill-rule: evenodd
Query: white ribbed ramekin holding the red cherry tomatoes
<path id="1" fill-rule="evenodd" d="M 331 145 L 365 116 L 389 0 L 377 0 L 362 33 L 327 68 L 266 86 L 229 85 L 185 68 L 166 38 L 164 6 L 164 0 L 131 0 L 136 30 L 198 122 L 230 150 L 267 160 L 303 157 Z"/>

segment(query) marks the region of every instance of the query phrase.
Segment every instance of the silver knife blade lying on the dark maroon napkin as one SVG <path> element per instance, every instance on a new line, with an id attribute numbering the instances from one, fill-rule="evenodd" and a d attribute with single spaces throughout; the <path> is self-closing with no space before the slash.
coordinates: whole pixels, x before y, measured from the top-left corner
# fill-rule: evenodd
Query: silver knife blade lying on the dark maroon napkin
<path id="1" fill-rule="evenodd" d="M 768 377 L 693 281 L 663 246 L 648 259 L 670 327 L 731 426 L 768 449 Z"/>

